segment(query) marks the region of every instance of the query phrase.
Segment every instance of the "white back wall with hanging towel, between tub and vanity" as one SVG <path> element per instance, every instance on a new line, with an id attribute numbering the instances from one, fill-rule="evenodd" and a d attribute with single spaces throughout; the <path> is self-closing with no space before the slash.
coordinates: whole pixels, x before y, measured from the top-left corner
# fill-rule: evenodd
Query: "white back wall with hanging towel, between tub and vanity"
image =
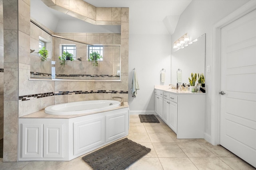
<path id="1" fill-rule="evenodd" d="M 170 35 L 129 35 L 128 102 L 131 114 L 144 114 L 145 111 L 147 114 L 154 114 L 154 85 L 170 84 L 170 43 Z M 133 98 L 130 93 L 134 68 L 136 68 L 140 87 L 136 98 Z M 166 70 L 165 83 L 161 83 L 160 80 L 160 71 L 162 68 Z"/>

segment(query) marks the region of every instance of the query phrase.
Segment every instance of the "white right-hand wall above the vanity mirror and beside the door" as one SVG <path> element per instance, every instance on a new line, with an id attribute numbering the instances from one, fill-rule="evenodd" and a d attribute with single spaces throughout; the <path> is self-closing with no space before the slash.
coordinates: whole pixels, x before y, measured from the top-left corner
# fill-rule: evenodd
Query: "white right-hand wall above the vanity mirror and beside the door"
<path id="1" fill-rule="evenodd" d="M 176 31 L 172 34 L 172 44 L 184 33 L 190 39 L 206 33 L 206 66 L 212 68 L 212 31 L 216 22 L 238 9 L 248 0 L 193 0 L 180 16 Z M 212 71 L 206 72 L 206 116 L 205 133 L 211 135 L 211 98 L 212 98 Z"/>

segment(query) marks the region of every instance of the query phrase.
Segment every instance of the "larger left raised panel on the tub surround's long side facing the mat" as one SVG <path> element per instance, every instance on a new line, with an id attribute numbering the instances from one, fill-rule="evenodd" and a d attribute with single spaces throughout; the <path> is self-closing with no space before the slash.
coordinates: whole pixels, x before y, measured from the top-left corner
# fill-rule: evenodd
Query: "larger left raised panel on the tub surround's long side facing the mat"
<path id="1" fill-rule="evenodd" d="M 104 117 L 74 123 L 74 155 L 86 152 L 105 142 Z"/>

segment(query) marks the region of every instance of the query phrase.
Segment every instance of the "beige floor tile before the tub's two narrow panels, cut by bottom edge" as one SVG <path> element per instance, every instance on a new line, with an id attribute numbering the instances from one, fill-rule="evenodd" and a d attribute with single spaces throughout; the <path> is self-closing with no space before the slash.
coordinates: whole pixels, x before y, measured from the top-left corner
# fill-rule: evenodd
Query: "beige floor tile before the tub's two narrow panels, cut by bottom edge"
<path id="1" fill-rule="evenodd" d="M 58 161 L 31 161 L 22 170 L 56 170 Z"/>

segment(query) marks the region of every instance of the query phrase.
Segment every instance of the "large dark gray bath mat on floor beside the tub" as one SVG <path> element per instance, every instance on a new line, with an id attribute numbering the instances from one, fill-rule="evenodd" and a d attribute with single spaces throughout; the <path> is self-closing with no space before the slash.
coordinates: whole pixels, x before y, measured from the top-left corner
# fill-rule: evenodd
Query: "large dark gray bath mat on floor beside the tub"
<path id="1" fill-rule="evenodd" d="M 150 150 L 150 148 L 124 138 L 83 156 L 82 160 L 94 170 L 124 170 Z"/>

